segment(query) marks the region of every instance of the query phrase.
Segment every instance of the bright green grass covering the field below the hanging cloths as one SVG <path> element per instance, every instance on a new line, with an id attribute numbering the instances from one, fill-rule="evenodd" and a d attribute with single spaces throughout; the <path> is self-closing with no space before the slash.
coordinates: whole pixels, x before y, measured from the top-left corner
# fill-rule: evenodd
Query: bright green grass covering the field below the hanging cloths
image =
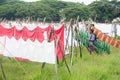
<path id="1" fill-rule="evenodd" d="M 59 80 L 120 80 L 120 49 L 111 47 L 111 54 L 90 55 L 86 48 L 82 47 L 83 57 L 73 57 L 73 65 L 70 65 L 69 55 L 66 56 L 71 75 L 65 63 L 58 64 Z M 46 64 L 41 69 L 41 63 L 23 62 L 0 57 L 7 80 L 56 80 L 55 65 Z M 2 79 L 0 68 L 0 80 Z"/>

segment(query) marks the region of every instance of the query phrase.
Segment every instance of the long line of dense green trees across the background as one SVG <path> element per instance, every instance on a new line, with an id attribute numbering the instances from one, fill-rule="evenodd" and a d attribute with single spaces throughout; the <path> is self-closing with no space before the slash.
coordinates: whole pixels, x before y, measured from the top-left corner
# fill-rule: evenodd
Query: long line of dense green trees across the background
<path id="1" fill-rule="evenodd" d="M 58 22 L 62 18 L 79 21 L 91 18 L 96 22 L 111 22 L 120 17 L 120 1 L 99 0 L 89 5 L 84 3 L 64 2 L 61 0 L 40 0 L 23 2 L 20 0 L 0 0 L 0 18 L 7 20 L 28 19 L 46 22 Z"/>

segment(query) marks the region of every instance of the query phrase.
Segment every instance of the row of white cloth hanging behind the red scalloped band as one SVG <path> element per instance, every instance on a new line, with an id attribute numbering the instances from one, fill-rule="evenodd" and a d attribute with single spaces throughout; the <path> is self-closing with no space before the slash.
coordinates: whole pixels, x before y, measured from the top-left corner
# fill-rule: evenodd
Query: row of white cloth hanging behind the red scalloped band
<path id="1" fill-rule="evenodd" d="M 40 26 L 41 28 L 45 28 L 48 27 L 48 25 L 51 25 L 53 27 L 59 27 L 60 24 L 59 23 L 43 23 L 43 22 L 37 22 L 37 21 L 2 21 L 0 22 L 1 25 L 4 25 L 5 27 L 13 27 L 13 26 L 17 26 L 17 27 L 28 27 L 28 28 L 35 28 L 37 26 Z"/>

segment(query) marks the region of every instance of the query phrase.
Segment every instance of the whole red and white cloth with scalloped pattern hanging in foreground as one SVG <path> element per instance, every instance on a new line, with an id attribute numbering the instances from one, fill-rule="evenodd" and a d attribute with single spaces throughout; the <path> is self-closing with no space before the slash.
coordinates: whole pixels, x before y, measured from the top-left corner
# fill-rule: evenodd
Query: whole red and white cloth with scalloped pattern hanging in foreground
<path id="1" fill-rule="evenodd" d="M 59 60 L 63 60 L 64 25 L 54 29 L 54 34 L 59 36 L 60 46 L 55 45 L 56 38 L 53 34 L 48 42 L 51 29 L 51 26 L 29 30 L 27 27 L 17 29 L 15 26 L 5 28 L 0 25 L 0 55 L 51 64 L 55 64 L 56 55 Z"/>

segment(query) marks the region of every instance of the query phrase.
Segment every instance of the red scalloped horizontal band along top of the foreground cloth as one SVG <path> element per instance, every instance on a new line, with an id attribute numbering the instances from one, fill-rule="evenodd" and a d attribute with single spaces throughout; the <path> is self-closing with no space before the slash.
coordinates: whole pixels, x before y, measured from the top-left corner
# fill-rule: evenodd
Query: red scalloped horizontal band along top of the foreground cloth
<path id="1" fill-rule="evenodd" d="M 22 38 L 24 41 L 30 39 L 33 42 L 35 40 L 42 42 L 44 40 L 44 32 L 49 32 L 51 28 L 51 26 L 48 26 L 44 29 L 36 27 L 33 30 L 28 30 L 27 27 L 23 27 L 21 30 L 18 30 L 15 26 L 12 28 L 5 28 L 4 26 L 0 25 L 0 36 L 7 36 L 9 38 L 15 37 L 16 40 Z"/>

